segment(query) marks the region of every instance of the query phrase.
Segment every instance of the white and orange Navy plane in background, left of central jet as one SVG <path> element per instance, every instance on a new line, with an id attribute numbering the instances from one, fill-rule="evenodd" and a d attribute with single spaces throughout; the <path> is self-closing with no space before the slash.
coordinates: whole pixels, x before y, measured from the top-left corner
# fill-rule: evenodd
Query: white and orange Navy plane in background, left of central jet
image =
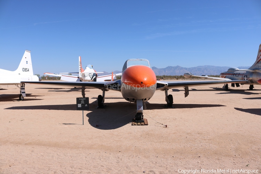
<path id="1" fill-rule="evenodd" d="M 68 75 L 68 74 L 78 74 L 78 73 L 79 76 Z M 87 65 L 84 70 L 81 66 L 81 56 L 79 56 L 79 72 L 59 73 L 59 74 L 44 73 L 44 74 L 61 77 L 61 80 L 64 81 L 104 81 L 104 80 L 110 80 L 112 78 L 112 75 L 97 76 L 97 73 L 103 73 L 103 72 L 96 72 L 93 69 L 92 65 Z M 116 79 L 117 75 L 122 75 L 122 74 L 121 73 L 113 74 L 113 79 Z"/>

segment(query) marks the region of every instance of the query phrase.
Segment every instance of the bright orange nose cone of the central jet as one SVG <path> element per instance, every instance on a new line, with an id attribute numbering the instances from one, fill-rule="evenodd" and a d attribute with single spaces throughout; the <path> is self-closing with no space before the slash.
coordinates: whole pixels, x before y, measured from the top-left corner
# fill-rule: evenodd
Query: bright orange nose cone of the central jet
<path id="1" fill-rule="evenodd" d="M 122 82 L 133 87 L 150 87 L 157 83 L 154 71 L 142 65 L 127 68 L 122 73 Z"/>

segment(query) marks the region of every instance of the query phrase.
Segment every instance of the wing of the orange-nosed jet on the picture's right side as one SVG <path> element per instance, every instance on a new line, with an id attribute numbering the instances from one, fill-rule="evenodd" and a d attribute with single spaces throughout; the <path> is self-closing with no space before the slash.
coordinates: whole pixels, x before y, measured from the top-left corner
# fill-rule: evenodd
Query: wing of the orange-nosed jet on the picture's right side
<path id="1" fill-rule="evenodd" d="M 211 80 L 211 81 L 157 81 L 156 90 L 165 90 L 171 88 L 180 88 L 180 87 L 191 87 L 191 86 L 205 86 L 205 85 L 215 85 L 215 84 L 227 84 L 227 83 L 243 83 L 247 80 L 229 80 L 229 81 L 220 81 L 220 80 Z"/>

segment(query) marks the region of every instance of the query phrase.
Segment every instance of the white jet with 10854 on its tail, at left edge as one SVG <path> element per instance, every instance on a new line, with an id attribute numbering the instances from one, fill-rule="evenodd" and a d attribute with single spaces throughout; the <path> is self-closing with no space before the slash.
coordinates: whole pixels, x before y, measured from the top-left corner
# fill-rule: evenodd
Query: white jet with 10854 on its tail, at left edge
<path id="1" fill-rule="evenodd" d="M 0 69 L 0 85 L 16 85 L 18 88 L 18 85 L 20 85 L 19 100 L 23 100 L 26 97 L 25 83 L 28 81 L 41 81 L 41 77 L 37 77 L 33 73 L 30 52 L 28 50 L 24 52 L 17 70 L 9 71 Z"/>

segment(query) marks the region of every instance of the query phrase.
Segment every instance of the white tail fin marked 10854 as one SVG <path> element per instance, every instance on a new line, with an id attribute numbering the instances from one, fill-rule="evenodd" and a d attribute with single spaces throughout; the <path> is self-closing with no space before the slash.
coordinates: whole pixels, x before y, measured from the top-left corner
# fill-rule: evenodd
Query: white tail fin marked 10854
<path id="1" fill-rule="evenodd" d="M 31 51 L 26 50 L 15 73 L 23 75 L 34 75 L 32 69 Z"/>

